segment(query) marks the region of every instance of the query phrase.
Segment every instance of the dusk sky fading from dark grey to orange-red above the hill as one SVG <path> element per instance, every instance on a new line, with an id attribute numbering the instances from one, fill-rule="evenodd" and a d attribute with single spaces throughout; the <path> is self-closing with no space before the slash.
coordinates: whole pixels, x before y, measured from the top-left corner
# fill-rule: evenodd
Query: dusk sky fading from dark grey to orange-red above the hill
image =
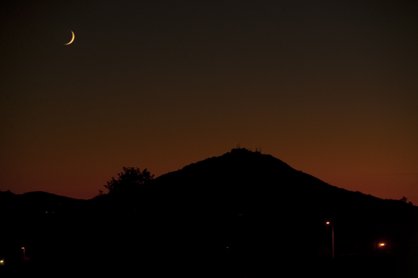
<path id="1" fill-rule="evenodd" d="M 241 143 L 418 205 L 417 1 L 6 0 L 0 35 L 2 191 L 90 199 Z"/>

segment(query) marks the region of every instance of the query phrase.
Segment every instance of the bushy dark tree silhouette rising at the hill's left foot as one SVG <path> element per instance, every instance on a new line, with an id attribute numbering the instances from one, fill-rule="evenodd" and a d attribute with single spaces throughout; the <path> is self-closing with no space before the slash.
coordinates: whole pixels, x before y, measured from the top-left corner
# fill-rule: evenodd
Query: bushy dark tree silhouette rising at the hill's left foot
<path id="1" fill-rule="evenodd" d="M 123 172 L 118 173 L 118 178 L 112 177 L 104 187 L 109 190 L 110 194 L 132 192 L 151 179 L 153 179 L 153 175 L 147 169 L 141 172 L 139 168 L 123 167 Z M 99 190 L 99 192 L 99 195 L 103 194 L 103 191 Z"/>

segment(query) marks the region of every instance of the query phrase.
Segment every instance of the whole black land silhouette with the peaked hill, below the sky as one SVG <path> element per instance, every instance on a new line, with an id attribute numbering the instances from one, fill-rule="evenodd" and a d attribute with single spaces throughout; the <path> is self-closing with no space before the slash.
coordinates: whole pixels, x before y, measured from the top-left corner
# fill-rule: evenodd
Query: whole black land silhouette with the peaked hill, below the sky
<path id="1" fill-rule="evenodd" d="M 395 276 L 399 269 L 405 277 L 415 271 L 400 262 L 417 257 L 418 207 L 331 186 L 247 149 L 190 164 L 124 195 L 86 201 L 0 192 L 0 201 L 6 223 L 25 220 L 6 229 L 10 242 L 32 247 L 31 264 L 42 270 L 53 262 L 56 269 L 94 266 L 115 275 L 263 277 L 289 268 L 321 273 L 326 266 L 339 277 L 361 277 L 366 265 L 374 274 L 380 266 Z M 334 229 L 336 263 L 326 221 Z M 52 255 L 57 246 L 60 256 Z M 69 264 L 74 257 L 77 267 Z"/>

